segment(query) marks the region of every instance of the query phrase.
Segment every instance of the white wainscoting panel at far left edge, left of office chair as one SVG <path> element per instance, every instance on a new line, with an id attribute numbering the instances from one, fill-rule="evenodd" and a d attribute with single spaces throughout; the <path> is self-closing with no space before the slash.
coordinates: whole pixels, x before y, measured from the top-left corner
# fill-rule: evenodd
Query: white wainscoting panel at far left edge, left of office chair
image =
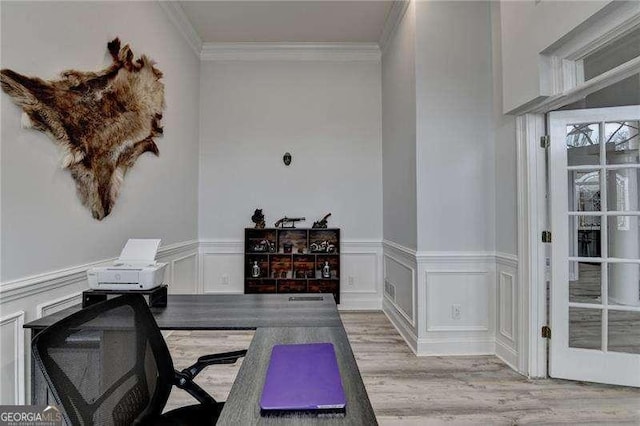
<path id="1" fill-rule="evenodd" d="M 25 403 L 24 311 L 0 319 L 0 402 Z"/>

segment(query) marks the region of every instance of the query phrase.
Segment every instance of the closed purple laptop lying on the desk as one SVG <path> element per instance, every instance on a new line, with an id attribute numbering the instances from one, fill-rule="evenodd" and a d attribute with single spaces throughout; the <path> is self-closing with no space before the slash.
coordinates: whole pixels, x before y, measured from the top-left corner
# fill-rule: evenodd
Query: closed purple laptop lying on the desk
<path id="1" fill-rule="evenodd" d="M 260 398 L 263 413 L 344 412 L 346 403 L 333 344 L 273 346 Z"/>

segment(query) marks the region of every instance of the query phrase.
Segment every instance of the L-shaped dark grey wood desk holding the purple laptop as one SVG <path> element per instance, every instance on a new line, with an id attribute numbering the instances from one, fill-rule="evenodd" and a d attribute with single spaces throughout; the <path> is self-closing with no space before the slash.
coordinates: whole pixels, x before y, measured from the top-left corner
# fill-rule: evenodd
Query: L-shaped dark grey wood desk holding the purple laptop
<path id="1" fill-rule="evenodd" d="M 317 300 L 319 299 L 320 300 Z M 81 309 L 72 306 L 24 325 L 32 336 Z M 166 308 L 151 311 L 162 330 L 257 330 L 218 424 L 377 424 L 349 340 L 330 294 L 169 295 Z M 261 417 L 258 401 L 271 348 L 278 343 L 332 342 L 347 410 L 343 417 Z M 47 404 L 48 392 L 32 358 L 32 404 Z"/>

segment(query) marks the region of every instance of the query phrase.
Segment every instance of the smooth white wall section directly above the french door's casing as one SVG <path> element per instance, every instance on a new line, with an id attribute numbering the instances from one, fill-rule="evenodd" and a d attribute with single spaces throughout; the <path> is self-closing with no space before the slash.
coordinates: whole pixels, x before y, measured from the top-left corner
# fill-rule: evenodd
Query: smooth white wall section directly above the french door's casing
<path id="1" fill-rule="evenodd" d="M 501 1 L 504 112 L 552 93 L 541 53 L 605 7 L 598 1 Z"/>

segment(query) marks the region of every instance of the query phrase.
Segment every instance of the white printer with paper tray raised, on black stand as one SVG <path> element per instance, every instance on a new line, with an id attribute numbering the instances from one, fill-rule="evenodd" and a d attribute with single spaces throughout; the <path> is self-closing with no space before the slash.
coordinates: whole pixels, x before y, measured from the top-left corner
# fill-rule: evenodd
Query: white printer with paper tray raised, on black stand
<path id="1" fill-rule="evenodd" d="M 160 240 L 130 239 L 113 266 L 87 271 L 94 290 L 149 290 L 164 281 L 166 263 L 156 262 Z"/>

